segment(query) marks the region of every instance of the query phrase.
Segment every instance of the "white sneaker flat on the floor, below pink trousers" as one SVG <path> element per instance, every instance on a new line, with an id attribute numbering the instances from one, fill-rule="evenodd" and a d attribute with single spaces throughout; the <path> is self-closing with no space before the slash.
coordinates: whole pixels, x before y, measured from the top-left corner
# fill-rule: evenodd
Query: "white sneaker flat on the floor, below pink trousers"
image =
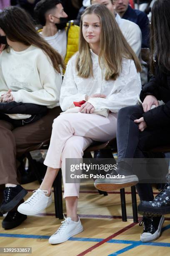
<path id="1" fill-rule="evenodd" d="M 60 228 L 49 238 L 49 243 L 63 243 L 67 241 L 70 237 L 75 236 L 83 231 L 83 226 L 80 222 L 79 216 L 77 222 L 73 221 L 70 217 L 67 217 L 61 223 L 62 225 L 60 226 Z"/>

